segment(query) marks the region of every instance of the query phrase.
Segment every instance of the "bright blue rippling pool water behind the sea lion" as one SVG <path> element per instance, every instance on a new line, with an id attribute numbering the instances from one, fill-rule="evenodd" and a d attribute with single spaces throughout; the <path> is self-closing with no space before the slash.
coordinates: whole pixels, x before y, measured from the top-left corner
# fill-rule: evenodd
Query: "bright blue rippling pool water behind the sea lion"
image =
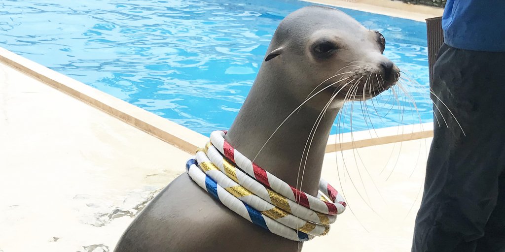
<path id="1" fill-rule="evenodd" d="M 0 46 L 208 135 L 230 127 L 281 19 L 308 5 L 295 0 L 4 0 Z M 386 56 L 418 83 L 409 91 L 419 116 L 407 98 L 390 99 L 394 94 L 387 91 L 379 101 L 367 102 L 370 119 L 355 103 L 352 130 L 371 128 L 369 120 L 374 128 L 432 121 L 425 24 L 341 10 L 381 31 Z M 346 116 L 332 133 L 350 130 Z"/>

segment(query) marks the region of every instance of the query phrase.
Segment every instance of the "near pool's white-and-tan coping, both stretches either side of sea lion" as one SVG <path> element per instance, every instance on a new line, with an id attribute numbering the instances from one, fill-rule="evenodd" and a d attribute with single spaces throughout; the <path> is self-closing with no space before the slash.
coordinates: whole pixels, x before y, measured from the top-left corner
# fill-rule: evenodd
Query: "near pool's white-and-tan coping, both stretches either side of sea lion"
<path id="1" fill-rule="evenodd" d="M 195 153 L 208 141 L 208 137 L 204 135 L 48 69 L 2 47 L 0 47 L 0 62 L 188 153 Z M 331 135 L 326 153 L 431 136 L 433 136 L 433 123 Z M 336 139 L 339 141 L 337 142 Z"/>

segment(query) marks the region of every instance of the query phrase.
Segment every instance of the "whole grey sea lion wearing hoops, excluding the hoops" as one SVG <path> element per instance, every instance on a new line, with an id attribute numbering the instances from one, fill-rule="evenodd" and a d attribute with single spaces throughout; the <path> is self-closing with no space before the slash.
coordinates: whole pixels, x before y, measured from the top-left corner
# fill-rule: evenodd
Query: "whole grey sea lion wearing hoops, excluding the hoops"
<path id="1" fill-rule="evenodd" d="M 275 31 L 226 140 L 293 186 L 301 182 L 298 168 L 301 157 L 306 158 L 301 190 L 316 196 L 330 129 L 343 103 L 370 99 L 398 80 L 398 68 L 382 55 L 384 46 L 379 32 L 336 9 L 312 6 L 289 14 Z M 182 174 L 136 217 L 115 251 L 278 252 L 301 247 L 301 242 L 246 221 Z"/>

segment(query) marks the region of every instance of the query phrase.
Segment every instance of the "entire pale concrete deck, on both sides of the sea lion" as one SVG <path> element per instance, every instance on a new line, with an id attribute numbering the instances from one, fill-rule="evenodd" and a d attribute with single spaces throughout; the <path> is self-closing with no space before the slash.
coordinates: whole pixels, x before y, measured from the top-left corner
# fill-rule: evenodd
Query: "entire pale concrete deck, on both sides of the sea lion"
<path id="1" fill-rule="evenodd" d="M 0 129 L 1 252 L 112 251 L 189 156 L 3 64 Z M 304 251 L 408 251 L 429 142 L 328 153 L 350 208 Z"/>

